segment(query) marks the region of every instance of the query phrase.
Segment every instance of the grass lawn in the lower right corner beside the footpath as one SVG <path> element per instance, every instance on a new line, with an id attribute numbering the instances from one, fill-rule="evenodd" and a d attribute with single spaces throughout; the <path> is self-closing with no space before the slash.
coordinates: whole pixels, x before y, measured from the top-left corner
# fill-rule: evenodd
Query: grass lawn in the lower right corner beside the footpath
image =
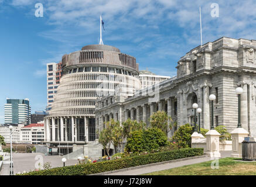
<path id="1" fill-rule="evenodd" d="M 219 160 L 219 169 L 212 169 L 212 161 L 207 161 L 200 164 L 186 165 L 145 175 L 256 175 L 256 162 L 236 160 L 241 159 L 221 158 Z"/>

